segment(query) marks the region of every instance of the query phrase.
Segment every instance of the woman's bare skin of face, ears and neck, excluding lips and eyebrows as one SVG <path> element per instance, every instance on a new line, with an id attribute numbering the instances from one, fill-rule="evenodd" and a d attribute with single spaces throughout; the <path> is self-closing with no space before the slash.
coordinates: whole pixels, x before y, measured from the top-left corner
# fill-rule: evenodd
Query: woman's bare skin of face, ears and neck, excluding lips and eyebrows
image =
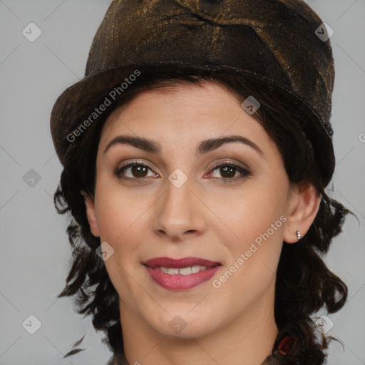
<path id="1" fill-rule="evenodd" d="M 257 365 L 272 351 L 275 273 L 283 241 L 297 242 L 297 230 L 306 234 L 320 196 L 312 185 L 289 182 L 277 146 L 242 101 L 217 83 L 180 83 L 139 93 L 115 109 L 103 127 L 95 197 L 82 194 L 91 232 L 114 250 L 105 264 L 120 297 L 129 364 Z M 155 140 L 161 154 L 125 144 L 103 154 L 117 135 Z M 195 156 L 201 140 L 226 135 L 248 138 L 262 154 L 235 142 Z M 120 176 L 134 180 L 118 178 L 115 171 L 133 160 L 149 169 L 126 168 Z M 227 160 L 250 174 L 212 169 Z M 168 180 L 177 168 L 187 177 L 181 187 Z M 222 183 L 230 178 L 231 183 Z M 227 281 L 213 287 L 212 280 L 282 216 L 281 227 L 275 226 Z M 222 267 L 204 284 L 173 292 L 153 282 L 142 264 L 153 257 L 189 256 Z M 186 324 L 180 333 L 169 326 L 175 316 Z"/>

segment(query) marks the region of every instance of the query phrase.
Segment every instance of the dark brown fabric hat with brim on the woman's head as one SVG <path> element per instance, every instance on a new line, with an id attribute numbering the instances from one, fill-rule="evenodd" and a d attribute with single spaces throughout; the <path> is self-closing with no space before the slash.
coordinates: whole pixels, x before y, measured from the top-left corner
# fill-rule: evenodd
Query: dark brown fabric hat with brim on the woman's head
<path id="1" fill-rule="evenodd" d="M 58 158 L 65 165 L 66 155 L 76 153 L 145 70 L 227 71 L 267 86 L 302 111 L 301 127 L 327 185 L 334 172 L 328 38 L 319 16 L 301 0 L 114 0 L 93 39 L 85 77 L 53 106 Z"/>

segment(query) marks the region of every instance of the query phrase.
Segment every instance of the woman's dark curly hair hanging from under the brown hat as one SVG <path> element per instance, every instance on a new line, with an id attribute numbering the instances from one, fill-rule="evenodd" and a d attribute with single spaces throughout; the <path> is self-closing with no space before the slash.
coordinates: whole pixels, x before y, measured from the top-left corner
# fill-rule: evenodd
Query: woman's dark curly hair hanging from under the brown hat
<path id="1" fill-rule="evenodd" d="M 320 157 L 314 156 L 312 145 L 301 128 L 306 115 L 299 112 L 296 106 L 279 99 L 267 87 L 249 83 L 243 76 L 233 73 L 208 70 L 187 72 L 178 68 L 144 72 L 121 94 L 103 119 L 89 128 L 88 135 L 85 133 L 81 137 L 77 153 L 66 155 L 54 203 L 59 214 L 69 212 L 72 215 L 67 233 L 73 253 L 66 287 L 58 297 L 75 296 L 77 312 L 84 314 L 84 317 L 92 315 L 93 327 L 107 332 L 106 343 L 110 350 L 115 355 L 123 353 L 118 293 L 110 282 L 103 260 L 96 255 L 101 242 L 99 237 L 91 234 L 81 190 L 94 197 L 98 143 L 103 123 L 112 109 L 130 102 L 142 91 L 177 83 L 199 86 L 201 80 L 219 83 L 233 93 L 240 103 L 248 96 L 254 96 L 261 107 L 253 116 L 279 148 L 290 182 L 312 183 L 322 194 L 319 211 L 307 235 L 297 244 L 284 242 L 282 247 L 274 301 L 274 316 L 279 329 L 274 349 L 286 336 L 294 339 L 296 346 L 287 356 L 274 356 L 281 361 L 280 364 L 323 364 L 327 356 L 324 350 L 328 348 L 329 339 L 333 338 L 320 333 L 314 324 L 314 314 L 323 309 L 328 313 L 339 311 L 346 302 L 347 287 L 329 270 L 322 257 L 329 250 L 331 240 L 341 232 L 344 217 L 351 212 L 325 192 L 328 182 L 323 181 L 318 167 Z M 78 351 L 82 350 L 72 349 L 65 357 Z"/>

